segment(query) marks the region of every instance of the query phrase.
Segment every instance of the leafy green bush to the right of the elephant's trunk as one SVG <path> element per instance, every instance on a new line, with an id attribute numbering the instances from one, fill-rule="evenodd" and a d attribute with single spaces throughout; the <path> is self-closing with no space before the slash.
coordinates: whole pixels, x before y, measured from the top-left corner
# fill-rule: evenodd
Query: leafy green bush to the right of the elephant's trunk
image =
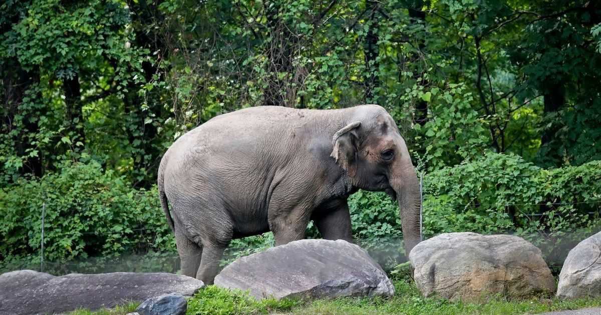
<path id="1" fill-rule="evenodd" d="M 601 161 L 545 170 L 489 152 L 424 178 L 424 234 L 591 232 L 601 200 Z"/>

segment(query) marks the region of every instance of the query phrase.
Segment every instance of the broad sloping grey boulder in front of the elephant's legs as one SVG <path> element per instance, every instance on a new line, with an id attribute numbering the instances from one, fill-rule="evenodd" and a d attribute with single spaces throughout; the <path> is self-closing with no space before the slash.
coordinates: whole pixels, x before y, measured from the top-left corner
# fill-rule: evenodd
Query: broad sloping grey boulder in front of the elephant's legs
<path id="1" fill-rule="evenodd" d="M 242 257 L 225 267 L 215 284 L 251 290 L 257 299 L 394 295 L 386 273 L 367 252 L 342 240 L 302 239 Z"/>

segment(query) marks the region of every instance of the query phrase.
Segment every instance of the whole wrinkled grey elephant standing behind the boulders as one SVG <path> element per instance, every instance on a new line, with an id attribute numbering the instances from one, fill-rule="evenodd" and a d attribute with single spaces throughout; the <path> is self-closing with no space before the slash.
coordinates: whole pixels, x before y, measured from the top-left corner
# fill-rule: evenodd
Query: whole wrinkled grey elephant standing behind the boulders
<path id="1" fill-rule="evenodd" d="M 347 199 L 359 188 L 398 197 L 407 253 L 420 241 L 415 169 L 397 125 L 377 105 L 261 106 L 217 116 L 167 150 L 158 185 L 182 274 L 206 284 L 233 238 L 271 230 L 276 245 L 287 244 L 303 239 L 313 220 L 323 238 L 351 241 Z"/>

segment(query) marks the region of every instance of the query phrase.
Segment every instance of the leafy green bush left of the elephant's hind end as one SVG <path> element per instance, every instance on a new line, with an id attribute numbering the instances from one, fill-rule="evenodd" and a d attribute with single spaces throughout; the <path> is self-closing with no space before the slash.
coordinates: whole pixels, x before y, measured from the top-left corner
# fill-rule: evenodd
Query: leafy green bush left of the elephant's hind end
<path id="1" fill-rule="evenodd" d="M 0 189 L 0 259 L 39 257 L 43 203 L 46 260 L 173 250 L 157 196 L 156 188 L 133 190 L 93 161 L 65 162 L 59 172 L 19 179 Z"/>

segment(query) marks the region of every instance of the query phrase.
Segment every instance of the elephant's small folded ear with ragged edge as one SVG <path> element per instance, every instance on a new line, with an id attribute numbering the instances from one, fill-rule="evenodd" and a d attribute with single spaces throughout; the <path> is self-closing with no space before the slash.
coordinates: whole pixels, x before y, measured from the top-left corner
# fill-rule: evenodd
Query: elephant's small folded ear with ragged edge
<path id="1" fill-rule="evenodd" d="M 357 148 L 355 147 L 356 135 L 353 130 L 361 125 L 361 122 L 356 121 L 346 125 L 346 127 L 338 130 L 332 138 L 334 149 L 331 156 L 336 159 L 336 163 L 340 165 L 350 177 L 354 177 L 357 172 Z"/>

